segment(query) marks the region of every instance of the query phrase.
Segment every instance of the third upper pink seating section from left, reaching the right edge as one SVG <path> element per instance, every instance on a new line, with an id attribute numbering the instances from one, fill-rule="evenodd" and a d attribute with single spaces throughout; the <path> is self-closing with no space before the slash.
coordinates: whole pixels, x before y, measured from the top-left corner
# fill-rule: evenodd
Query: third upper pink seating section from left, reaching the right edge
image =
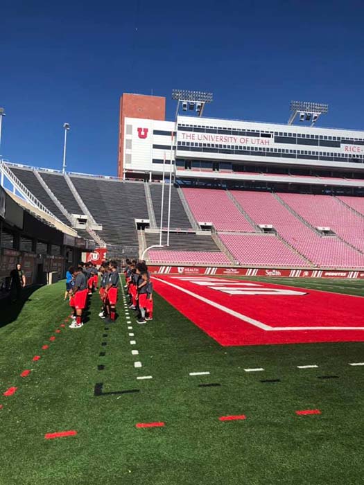
<path id="1" fill-rule="evenodd" d="M 364 251 L 364 218 L 331 195 L 278 194 L 313 227 L 329 227 L 347 243 Z"/>

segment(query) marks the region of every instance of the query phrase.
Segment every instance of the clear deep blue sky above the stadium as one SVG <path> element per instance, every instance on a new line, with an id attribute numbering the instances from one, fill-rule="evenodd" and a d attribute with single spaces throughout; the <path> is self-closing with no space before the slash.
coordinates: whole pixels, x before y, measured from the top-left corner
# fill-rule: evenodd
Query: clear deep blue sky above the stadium
<path id="1" fill-rule="evenodd" d="M 286 123 L 291 99 L 329 103 L 320 125 L 364 129 L 360 1 L 2 0 L 0 153 L 116 174 L 119 98 L 214 92 L 206 116 Z"/>

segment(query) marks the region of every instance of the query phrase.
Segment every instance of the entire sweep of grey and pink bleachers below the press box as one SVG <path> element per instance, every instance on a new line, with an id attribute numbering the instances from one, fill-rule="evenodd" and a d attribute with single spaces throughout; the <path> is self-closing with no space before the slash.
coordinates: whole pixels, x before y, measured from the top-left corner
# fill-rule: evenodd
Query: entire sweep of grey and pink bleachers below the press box
<path id="1" fill-rule="evenodd" d="M 70 226 L 31 168 L 8 168 L 56 218 Z M 69 213 L 83 214 L 62 173 L 44 169 L 38 173 Z M 135 219 L 149 218 L 145 182 L 76 174 L 70 177 L 96 223 L 102 224 L 102 231 L 97 232 L 107 243 L 109 256 L 135 257 L 139 242 L 145 247 L 159 244 L 159 234 L 153 231 L 138 239 Z M 149 189 L 148 203 L 151 200 L 159 227 L 162 184 L 153 182 Z M 164 195 L 166 227 L 168 184 Z M 171 231 L 168 249 L 151 249 L 150 262 L 231 265 L 237 261 L 245 266 L 364 268 L 364 197 L 175 186 L 171 195 L 171 229 L 182 231 Z M 184 199 L 189 205 L 187 212 Z M 191 214 L 197 222 L 213 224 L 213 236 L 196 233 Z M 272 233 L 263 233 L 259 224 L 272 225 Z M 333 232 L 324 234 L 317 227 L 329 227 Z M 89 238 L 85 230 L 78 230 L 78 234 Z M 162 244 L 166 244 L 165 233 Z"/>

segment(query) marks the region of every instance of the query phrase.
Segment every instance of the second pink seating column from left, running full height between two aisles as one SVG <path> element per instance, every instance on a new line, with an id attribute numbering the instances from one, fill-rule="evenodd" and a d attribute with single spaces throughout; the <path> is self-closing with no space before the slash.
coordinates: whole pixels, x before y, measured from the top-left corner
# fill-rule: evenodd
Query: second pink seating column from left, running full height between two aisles
<path id="1" fill-rule="evenodd" d="M 364 267 L 363 254 L 335 236 L 320 236 L 288 211 L 271 193 L 250 191 L 233 191 L 232 193 L 254 222 L 272 224 L 284 240 L 314 265 Z"/>

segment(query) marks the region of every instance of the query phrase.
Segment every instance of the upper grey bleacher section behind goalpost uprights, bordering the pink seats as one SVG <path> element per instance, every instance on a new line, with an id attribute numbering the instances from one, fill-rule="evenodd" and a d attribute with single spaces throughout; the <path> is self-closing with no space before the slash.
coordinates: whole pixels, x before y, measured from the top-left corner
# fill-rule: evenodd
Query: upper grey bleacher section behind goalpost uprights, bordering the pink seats
<path id="1" fill-rule="evenodd" d="M 152 197 L 153 208 L 155 213 L 155 221 L 157 227 L 160 227 L 160 216 L 162 207 L 162 184 L 150 184 L 150 196 Z M 171 228 L 173 229 L 191 229 L 191 223 L 184 211 L 179 191 L 180 188 L 171 187 Z M 168 224 L 168 185 L 164 187 L 164 203 L 163 203 L 163 227 Z"/>

